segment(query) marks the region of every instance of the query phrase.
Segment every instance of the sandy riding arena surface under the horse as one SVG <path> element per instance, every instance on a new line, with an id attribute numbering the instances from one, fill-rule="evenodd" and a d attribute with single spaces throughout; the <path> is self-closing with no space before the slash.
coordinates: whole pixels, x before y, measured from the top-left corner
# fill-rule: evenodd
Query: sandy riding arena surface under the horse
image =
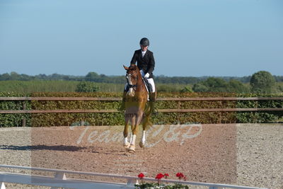
<path id="1" fill-rule="evenodd" d="M 122 130 L 0 128 L 0 164 L 126 176 L 168 173 L 171 179 L 182 172 L 187 181 L 283 187 L 282 125 L 155 125 L 146 148 L 139 148 L 138 136 L 132 154 L 122 147 Z"/>

